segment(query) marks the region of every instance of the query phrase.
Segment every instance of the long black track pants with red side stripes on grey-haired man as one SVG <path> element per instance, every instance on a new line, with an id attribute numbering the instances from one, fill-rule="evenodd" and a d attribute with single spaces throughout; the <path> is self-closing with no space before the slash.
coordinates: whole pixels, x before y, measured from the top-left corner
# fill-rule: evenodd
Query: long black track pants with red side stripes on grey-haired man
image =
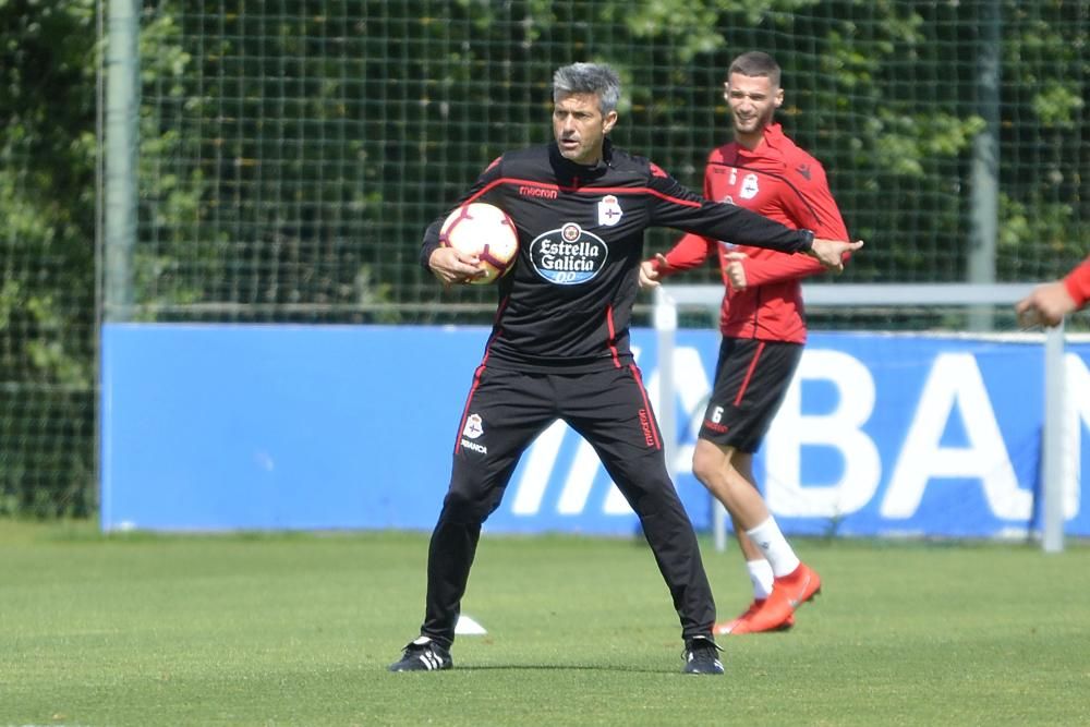
<path id="1" fill-rule="evenodd" d="M 447 645 L 453 642 L 481 525 L 499 507 L 522 452 L 557 419 L 594 447 L 639 516 L 680 617 L 682 638 L 710 635 L 712 591 L 634 365 L 590 374 L 477 368 L 459 424 L 450 487 L 432 533 L 421 633 Z"/>

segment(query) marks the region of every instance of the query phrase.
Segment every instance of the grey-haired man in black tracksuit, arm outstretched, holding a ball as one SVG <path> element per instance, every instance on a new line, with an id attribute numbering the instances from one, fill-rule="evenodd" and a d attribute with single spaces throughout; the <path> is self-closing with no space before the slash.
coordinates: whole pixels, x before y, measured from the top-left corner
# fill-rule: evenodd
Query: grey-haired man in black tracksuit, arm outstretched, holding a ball
<path id="1" fill-rule="evenodd" d="M 662 437 L 629 347 L 649 227 L 810 255 L 839 269 L 862 242 L 816 239 L 734 205 L 705 201 L 646 159 L 613 147 L 620 81 L 607 65 L 574 63 L 553 77 L 555 141 L 508 152 L 458 206 L 486 202 L 518 230 L 513 269 L 453 445 L 447 495 L 432 533 L 420 638 L 392 671 L 452 666 L 460 604 L 481 526 L 499 507 L 522 452 L 556 420 L 586 438 L 640 518 L 673 597 L 683 671 L 723 674 L 712 638 L 715 604 L 697 536 L 670 481 Z M 421 263 L 445 283 L 480 271 L 428 227 Z"/>

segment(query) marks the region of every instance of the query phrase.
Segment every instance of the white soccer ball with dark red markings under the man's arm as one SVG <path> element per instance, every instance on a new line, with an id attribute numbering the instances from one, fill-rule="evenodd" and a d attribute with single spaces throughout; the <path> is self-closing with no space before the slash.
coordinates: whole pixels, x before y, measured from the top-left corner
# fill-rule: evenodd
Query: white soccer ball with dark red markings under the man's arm
<path id="1" fill-rule="evenodd" d="M 471 202 L 447 216 L 439 229 L 439 244 L 467 255 L 476 255 L 485 275 L 469 282 L 487 286 L 499 280 L 512 267 L 519 254 L 519 233 L 514 222 L 499 207 Z"/>

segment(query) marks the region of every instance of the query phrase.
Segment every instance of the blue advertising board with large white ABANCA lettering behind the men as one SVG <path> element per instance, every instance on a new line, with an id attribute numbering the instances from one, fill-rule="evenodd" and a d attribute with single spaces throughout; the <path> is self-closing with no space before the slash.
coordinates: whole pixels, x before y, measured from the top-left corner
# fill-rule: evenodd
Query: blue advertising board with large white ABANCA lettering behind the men
<path id="1" fill-rule="evenodd" d="M 170 531 L 435 523 L 481 327 L 108 324 L 101 525 Z M 633 330 L 653 399 L 656 336 Z M 681 330 L 671 468 L 689 472 L 718 350 Z M 1090 535 L 1090 343 L 1065 355 L 1065 532 Z M 812 334 L 755 470 L 785 532 L 1024 536 L 1040 529 L 1043 350 L 995 340 Z M 635 516 L 562 423 L 525 452 L 493 532 L 630 534 Z"/>

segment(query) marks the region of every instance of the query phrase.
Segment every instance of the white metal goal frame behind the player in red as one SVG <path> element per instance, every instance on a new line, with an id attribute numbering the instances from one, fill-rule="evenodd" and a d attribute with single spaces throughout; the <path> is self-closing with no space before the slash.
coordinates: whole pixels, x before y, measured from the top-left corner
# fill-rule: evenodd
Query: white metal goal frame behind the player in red
<path id="1" fill-rule="evenodd" d="M 803 284 L 808 310 L 880 307 L 967 307 L 1014 305 L 1038 283 L 809 283 Z M 717 313 L 723 301 L 722 284 L 663 284 L 655 289 L 653 325 L 658 339 L 659 396 L 657 413 L 663 431 L 663 446 L 673 474 L 677 450 L 677 413 L 674 383 L 675 335 L 679 308 L 704 308 Z M 1063 443 L 1066 417 L 1064 407 L 1064 327 L 1047 329 L 1044 341 L 1044 419 L 1041 452 L 1042 534 L 1045 553 L 1064 549 Z M 726 511 L 712 498 L 712 525 L 715 548 L 726 548 Z"/>

